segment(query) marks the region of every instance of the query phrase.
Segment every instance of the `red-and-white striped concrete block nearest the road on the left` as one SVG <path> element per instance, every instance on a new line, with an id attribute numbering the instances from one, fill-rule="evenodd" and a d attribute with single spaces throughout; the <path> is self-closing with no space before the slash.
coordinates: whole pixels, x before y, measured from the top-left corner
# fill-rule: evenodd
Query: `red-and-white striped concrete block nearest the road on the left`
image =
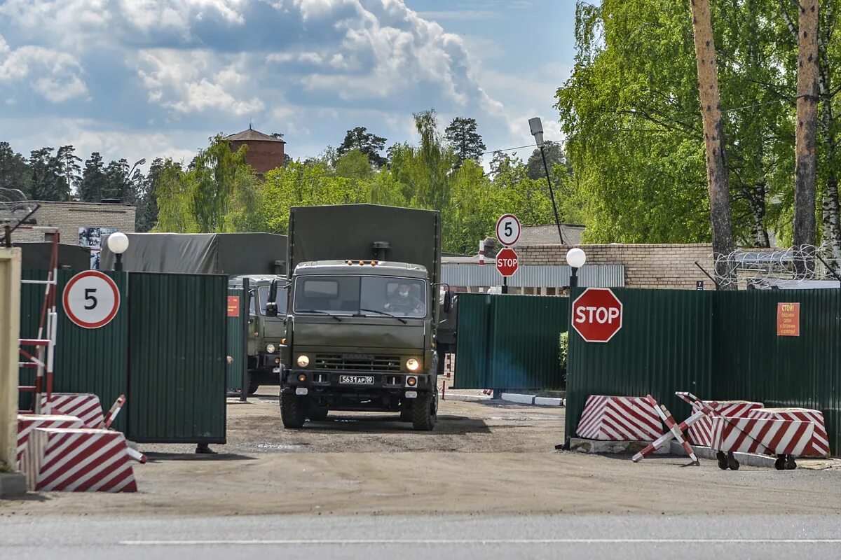
<path id="1" fill-rule="evenodd" d="M 111 430 L 36 428 L 24 452 L 30 490 L 136 492 L 125 437 Z"/>

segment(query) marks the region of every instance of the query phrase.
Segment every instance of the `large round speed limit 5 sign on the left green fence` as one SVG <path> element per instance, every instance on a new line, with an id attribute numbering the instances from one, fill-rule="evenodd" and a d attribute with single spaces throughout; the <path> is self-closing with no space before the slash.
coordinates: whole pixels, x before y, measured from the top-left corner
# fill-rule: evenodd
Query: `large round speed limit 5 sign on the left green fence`
<path id="1" fill-rule="evenodd" d="M 61 296 L 67 318 L 82 328 L 104 327 L 119 311 L 119 289 L 99 270 L 73 276 Z"/>

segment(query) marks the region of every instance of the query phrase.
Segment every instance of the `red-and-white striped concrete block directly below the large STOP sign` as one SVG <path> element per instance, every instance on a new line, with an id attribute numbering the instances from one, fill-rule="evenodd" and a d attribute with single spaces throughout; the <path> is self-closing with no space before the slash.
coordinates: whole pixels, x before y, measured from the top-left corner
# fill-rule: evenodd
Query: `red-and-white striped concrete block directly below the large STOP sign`
<path id="1" fill-rule="evenodd" d="M 643 397 L 590 395 L 576 433 L 585 439 L 653 442 L 663 435 L 655 408 Z"/>

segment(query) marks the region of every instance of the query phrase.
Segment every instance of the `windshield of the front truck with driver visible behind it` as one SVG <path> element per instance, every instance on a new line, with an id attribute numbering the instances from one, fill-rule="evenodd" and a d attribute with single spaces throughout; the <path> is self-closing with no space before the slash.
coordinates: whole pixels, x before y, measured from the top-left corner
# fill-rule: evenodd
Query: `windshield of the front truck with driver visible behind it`
<path id="1" fill-rule="evenodd" d="M 389 276 L 305 276 L 295 284 L 294 310 L 426 317 L 426 282 Z"/>

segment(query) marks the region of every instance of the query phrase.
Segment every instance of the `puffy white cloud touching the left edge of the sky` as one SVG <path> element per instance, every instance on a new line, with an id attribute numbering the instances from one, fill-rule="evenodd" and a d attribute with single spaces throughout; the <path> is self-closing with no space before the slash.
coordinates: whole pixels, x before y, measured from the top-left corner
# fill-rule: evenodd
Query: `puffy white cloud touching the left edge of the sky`
<path id="1" fill-rule="evenodd" d="M 31 79 L 29 86 L 35 92 L 59 103 L 87 93 L 81 74 L 82 66 L 72 55 L 33 45 L 13 50 L 0 35 L 0 86 Z"/>

